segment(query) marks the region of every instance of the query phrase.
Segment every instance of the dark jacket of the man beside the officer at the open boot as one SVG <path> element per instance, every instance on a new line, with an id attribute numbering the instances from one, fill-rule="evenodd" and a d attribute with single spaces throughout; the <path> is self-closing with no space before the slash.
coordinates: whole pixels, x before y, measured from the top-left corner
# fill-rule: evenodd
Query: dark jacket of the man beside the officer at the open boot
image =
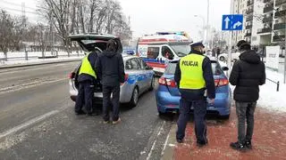
<path id="1" fill-rule="evenodd" d="M 97 75 L 106 86 L 116 86 L 124 83 L 124 64 L 122 54 L 103 52 L 97 59 Z"/>

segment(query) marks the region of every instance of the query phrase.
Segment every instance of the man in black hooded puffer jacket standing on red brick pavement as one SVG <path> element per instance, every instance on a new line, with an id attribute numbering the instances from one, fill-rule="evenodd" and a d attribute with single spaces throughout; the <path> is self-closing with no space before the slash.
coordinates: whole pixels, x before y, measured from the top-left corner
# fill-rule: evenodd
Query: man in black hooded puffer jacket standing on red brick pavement
<path id="1" fill-rule="evenodd" d="M 251 148 L 254 129 L 254 111 L 259 98 L 259 85 L 265 84 L 265 64 L 257 52 L 250 50 L 250 44 L 241 40 L 237 46 L 240 60 L 234 63 L 230 83 L 235 85 L 233 99 L 238 116 L 238 141 L 231 142 L 231 148 L 243 150 Z M 247 119 L 247 132 L 245 120 Z"/>

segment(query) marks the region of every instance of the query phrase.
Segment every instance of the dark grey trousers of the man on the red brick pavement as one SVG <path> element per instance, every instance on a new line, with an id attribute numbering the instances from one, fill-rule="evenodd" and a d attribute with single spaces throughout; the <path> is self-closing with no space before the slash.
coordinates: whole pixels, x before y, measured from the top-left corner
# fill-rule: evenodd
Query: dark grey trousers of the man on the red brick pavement
<path id="1" fill-rule="evenodd" d="M 251 140 L 254 129 L 254 111 L 257 102 L 235 102 L 236 115 L 238 116 L 238 140 L 244 143 Z M 247 120 L 247 132 L 245 132 L 245 120 Z"/>

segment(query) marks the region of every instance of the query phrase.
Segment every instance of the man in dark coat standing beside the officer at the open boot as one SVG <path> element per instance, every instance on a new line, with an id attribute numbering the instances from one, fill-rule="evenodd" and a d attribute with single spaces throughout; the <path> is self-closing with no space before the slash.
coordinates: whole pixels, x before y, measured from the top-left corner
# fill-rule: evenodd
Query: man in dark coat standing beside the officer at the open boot
<path id="1" fill-rule="evenodd" d="M 114 40 L 107 42 L 106 50 L 98 57 L 97 75 L 103 85 L 103 118 L 104 123 L 110 121 L 109 105 L 113 104 L 113 124 L 118 124 L 120 85 L 124 83 L 124 64 L 122 54 L 117 52 L 118 44 Z M 113 95 L 111 102 L 111 95 Z"/>

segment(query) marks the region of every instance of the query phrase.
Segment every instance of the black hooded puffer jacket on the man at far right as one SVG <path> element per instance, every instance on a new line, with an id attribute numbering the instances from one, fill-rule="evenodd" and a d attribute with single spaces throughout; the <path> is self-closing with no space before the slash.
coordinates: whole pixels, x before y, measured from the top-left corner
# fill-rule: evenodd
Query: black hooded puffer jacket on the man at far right
<path id="1" fill-rule="evenodd" d="M 236 85 L 234 100 L 255 102 L 259 98 L 259 85 L 265 84 L 265 64 L 257 52 L 249 50 L 240 54 L 240 60 L 234 63 L 230 83 Z"/>

